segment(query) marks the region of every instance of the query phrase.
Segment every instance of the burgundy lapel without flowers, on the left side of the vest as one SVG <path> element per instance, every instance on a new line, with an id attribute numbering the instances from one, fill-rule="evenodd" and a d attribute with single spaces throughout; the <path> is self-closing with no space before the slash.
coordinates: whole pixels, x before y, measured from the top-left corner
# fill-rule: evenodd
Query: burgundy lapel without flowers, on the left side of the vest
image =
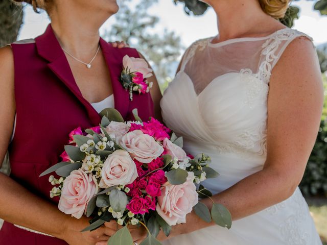
<path id="1" fill-rule="evenodd" d="M 77 97 L 87 111 L 87 114 L 93 125 L 98 125 L 101 116 L 90 105 L 90 103 L 84 99 L 79 87 L 77 86 L 72 70 L 69 67 L 65 54 L 63 53 L 61 46 L 52 30 L 51 24 L 43 35 L 35 39 L 38 54 L 44 59 L 50 61 L 49 68 L 54 74 L 67 86 L 69 90 Z"/>

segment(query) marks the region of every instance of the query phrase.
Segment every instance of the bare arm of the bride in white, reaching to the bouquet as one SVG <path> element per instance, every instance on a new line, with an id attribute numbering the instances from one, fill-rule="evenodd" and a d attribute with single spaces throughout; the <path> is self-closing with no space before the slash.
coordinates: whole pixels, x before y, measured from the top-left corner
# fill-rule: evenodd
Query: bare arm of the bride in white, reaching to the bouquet
<path id="1" fill-rule="evenodd" d="M 293 194 L 315 143 L 322 105 L 316 52 L 308 39 L 297 38 L 287 47 L 270 80 L 268 152 L 263 170 L 213 197 L 229 209 L 233 220 L 259 212 Z M 210 200 L 202 201 L 211 208 Z M 186 216 L 186 225 L 173 227 L 171 236 L 212 225 L 192 212 Z M 166 239 L 165 235 L 160 233 L 159 239 Z"/>

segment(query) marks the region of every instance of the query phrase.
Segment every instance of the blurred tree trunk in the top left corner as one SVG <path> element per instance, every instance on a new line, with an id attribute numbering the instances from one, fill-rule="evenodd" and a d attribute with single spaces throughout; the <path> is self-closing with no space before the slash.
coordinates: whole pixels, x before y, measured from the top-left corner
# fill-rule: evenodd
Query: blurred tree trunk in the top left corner
<path id="1" fill-rule="evenodd" d="M 0 1 L 0 47 L 16 41 L 22 16 L 21 5 L 10 0 Z"/>

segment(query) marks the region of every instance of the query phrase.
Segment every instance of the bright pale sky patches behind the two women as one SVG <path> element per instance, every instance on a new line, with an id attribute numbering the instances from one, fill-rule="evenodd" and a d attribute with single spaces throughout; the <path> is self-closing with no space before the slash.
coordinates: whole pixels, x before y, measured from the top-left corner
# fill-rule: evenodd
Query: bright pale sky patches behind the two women
<path id="1" fill-rule="evenodd" d="M 327 42 L 327 16 L 321 16 L 318 11 L 313 10 L 314 2 L 306 0 L 293 2 L 293 5 L 301 10 L 300 18 L 295 20 L 293 28 L 313 37 L 314 43 L 319 45 Z M 50 22 L 45 12 L 34 13 L 30 6 L 26 6 L 24 11 L 24 24 L 18 40 L 34 38 L 42 34 Z M 183 12 L 183 4 L 175 6 L 172 0 L 158 0 L 158 4 L 150 9 L 150 13 L 160 18 L 156 28 L 158 32 L 165 28 L 175 31 L 186 47 L 198 39 L 215 36 L 218 32 L 216 16 L 212 9 L 208 9 L 202 16 L 188 16 Z M 114 21 L 114 16 L 109 18 L 101 27 L 100 33 L 110 28 L 110 24 Z"/>

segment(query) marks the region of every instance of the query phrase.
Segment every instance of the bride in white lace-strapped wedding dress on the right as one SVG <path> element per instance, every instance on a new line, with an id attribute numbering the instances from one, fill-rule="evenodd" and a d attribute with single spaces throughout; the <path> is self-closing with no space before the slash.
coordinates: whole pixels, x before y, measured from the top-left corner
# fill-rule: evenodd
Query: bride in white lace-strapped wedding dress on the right
<path id="1" fill-rule="evenodd" d="M 219 35 L 188 48 L 160 105 L 185 150 L 212 157 L 220 176 L 204 186 L 233 224 L 227 230 L 191 213 L 158 238 L 165 245 L 319 245 L 298 188 L 323 104 L 312 40 L 276 20 L 290 1 L 203 2 L 217 14 Z"/>

